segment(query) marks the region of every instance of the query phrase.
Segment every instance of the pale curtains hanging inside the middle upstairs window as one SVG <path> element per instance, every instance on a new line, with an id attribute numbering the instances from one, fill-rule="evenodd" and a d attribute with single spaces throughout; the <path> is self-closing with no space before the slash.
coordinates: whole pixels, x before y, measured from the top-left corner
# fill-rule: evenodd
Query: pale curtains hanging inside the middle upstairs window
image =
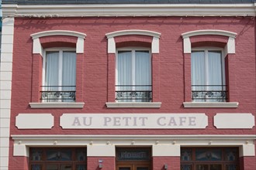
<path id="1" fill-rule="evenodd" d="M 116 80 L 116 90 L 151 90 L 151 61 L 149 51 L 119 51 L 117 56 L 116 71 L 118 75 Z M 128 93 L 126 93 L 124 98 L 127 97 L 129 98 Z"/>

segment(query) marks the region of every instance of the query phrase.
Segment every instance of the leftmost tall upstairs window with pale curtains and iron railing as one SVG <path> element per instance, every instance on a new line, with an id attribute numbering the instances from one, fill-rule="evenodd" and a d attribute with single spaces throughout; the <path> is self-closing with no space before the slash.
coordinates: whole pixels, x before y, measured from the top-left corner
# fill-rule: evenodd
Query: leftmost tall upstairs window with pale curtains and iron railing
<path id="1" fill-rule="evenodd" d="M 47 102 L 75 100 L 76 53 L 68 49 L 45 52 L 41 99 Z"/>

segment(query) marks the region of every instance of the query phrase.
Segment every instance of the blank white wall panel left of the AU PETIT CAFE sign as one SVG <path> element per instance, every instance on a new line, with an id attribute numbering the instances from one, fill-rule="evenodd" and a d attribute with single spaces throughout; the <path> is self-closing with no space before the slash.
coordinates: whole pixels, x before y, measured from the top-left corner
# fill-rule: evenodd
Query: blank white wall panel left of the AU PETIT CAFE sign
<path id="1" fill-rule="evenodd" d="M 51 129 L 54 127 L 52 114 L 18 114 L 16 116 L 18 129 Z"/>

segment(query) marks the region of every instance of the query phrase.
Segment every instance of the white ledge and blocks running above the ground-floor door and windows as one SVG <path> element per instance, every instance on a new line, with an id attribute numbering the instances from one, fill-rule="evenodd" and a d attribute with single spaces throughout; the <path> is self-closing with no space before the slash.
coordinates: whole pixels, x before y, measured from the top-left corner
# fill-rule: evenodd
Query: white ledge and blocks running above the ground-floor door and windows
<path id="1" fill-rule="evenodd" d="M 112 156 L 116 146 L 152 146 L 153 156 L 178 156 L 181 147 L 240 147 L 240 156 L 254 156 L 256 135 L 12 135 L 14 156 L 29 156 L 29 147 L 87 146 L 88 155 Z M 104 149 L 100 154 L 95 149 Z M 166 153 L 167 149 L 173 153 Z"/>

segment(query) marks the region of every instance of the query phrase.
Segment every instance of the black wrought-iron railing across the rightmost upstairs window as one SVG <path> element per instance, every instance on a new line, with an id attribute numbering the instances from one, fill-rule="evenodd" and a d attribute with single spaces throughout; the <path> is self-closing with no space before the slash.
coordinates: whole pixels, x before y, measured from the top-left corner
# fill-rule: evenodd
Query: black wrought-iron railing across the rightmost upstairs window
<path id="1" fill-rule="evenodd" d="M 193 101 L 225 102 L 227 101 L 226 85 L 192 85 Z"/>

